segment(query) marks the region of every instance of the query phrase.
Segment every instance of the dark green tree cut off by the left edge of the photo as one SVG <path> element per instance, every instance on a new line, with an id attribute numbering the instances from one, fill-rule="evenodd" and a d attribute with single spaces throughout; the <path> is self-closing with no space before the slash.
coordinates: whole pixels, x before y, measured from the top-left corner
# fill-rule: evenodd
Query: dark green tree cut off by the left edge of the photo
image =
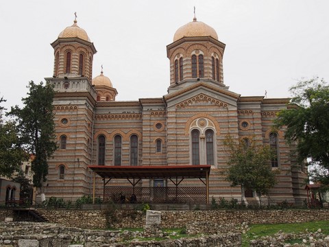
<path id="1" fill-rule="evenodd" d="M 5 102 L 3 97 L 1 102 Z M 3 110 L 5 108 L 0 106 L 0 176 L 11 178 L 14 173 L 21 171 L 21 163 L 27 160 L 27 153 L 21 148 L 14 122 L 3 119 Z"/>

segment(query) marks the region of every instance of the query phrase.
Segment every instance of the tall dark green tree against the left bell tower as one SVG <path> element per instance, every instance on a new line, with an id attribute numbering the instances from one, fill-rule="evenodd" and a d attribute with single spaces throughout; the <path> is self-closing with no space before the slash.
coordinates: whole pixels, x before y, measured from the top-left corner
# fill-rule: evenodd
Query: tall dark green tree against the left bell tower
<path id="1" fill-rule="evenodd" d="M 53 87 L 50 84 L 43 86 L 29 82 L 27 86 L 29 93 L 23 98 L 23 108 L 12 107 L 9 115 L 16 118 L 21 141 L 25 143 L 29 154 L 34 154 L 32 160 L 32 172 L 34 172 L 33 183 L 40 188 L 41 199 L 45 200 L 43 184 L 47 180 L 47 160 L 55 152 L 57 145 L 55 141 L 53 122 Z"/>

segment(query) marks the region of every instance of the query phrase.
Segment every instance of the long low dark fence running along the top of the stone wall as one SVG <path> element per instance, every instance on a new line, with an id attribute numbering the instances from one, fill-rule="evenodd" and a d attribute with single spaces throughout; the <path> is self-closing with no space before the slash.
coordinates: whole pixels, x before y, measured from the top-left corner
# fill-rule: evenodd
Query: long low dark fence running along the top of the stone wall
<path id="1" fill-rule="evenodd" d="M 128 191 L 130 192 L 130 191 Z M 117 194 L 116 194 L 117 195 Z M 138 194 L 140 197 L 134 203 L 130 203 L 129 200 L 125 200 L 121 202 L 120 199 L 115 201 L 112 199 L 103 201 L 100 198 L 95 200 L 95 204 L 93 204 L 93 199 L 91 196 L 86 196 L 87 200 L 77 200 L 75 202 L 72 201 L 64 201 L 62 198 L 49 198 L 44 203 L 36 203 L 36 202 L 28 202 L 25 204 L 9 204 L 9 203 L 1 203 L 0 208 L 3 209 L 19 209 L 19 208 L 42 208 L 42 209 L 63 209 L 63 210 L 102 210 L 102 209 L 123 209 L 123 210 L 158 210 L 158 211 L 193 211 L 193 210 L 240 210 L 240 209 L 328 209 L 328 203 L 310 205 L 306 202 L 306 199 L 285 199 L 285 198 L 260 198 L 260 201 L 256 201 L 255 198 L 248 198 L 248 203 L 241 202 L 241 200 L 236 200 L 234 198 L 219 198 L 215 200 L 212 198 L 209 204 L 204 202 L 200 202 L 197 200 L 193 200 L 193 198 L 188 198 L 181 196 L 180 200 L 185 198 L 185 201 L 174 201 L 167 200 L 165 201 L 166 194 L 164 194 L 164 198 L 159 198 L 159 201 L 143 201 L 143 198 L 151 197 L 143 197 L 143 194 Z M 159 195 L 158 195 L 159 196 Z M 175 198 L 172 193 L 167 194 L 167 198 Z M 197 197 L 196 197 L 197 198 Z M 160 200 L 161 199 L 161 200 Z M 188 199 L 188 200 L 187 200 Z"/>

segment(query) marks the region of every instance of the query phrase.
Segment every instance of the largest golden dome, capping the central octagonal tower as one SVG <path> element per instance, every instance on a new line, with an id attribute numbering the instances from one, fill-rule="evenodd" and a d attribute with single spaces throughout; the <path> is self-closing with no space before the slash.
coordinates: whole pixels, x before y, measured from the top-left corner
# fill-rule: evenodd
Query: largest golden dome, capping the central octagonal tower
<path id="1" fill-rule="evenodd" d="M 218 40 L 217 33 L 212 27 L 210 27 L 206 23 L 203 23 L 202 21 L 197 21 L 197 19 L 194 18 L 193 21 L 191 21 L 190 23 L 187 23 L 186 25 L 183 25 L 182 27 L 178 28 L 178 30 L 175 32 L 175 35 L 173 36 L 173 42 L 183 37 L 200 36 L 212 36 L 212 38 Z"/>

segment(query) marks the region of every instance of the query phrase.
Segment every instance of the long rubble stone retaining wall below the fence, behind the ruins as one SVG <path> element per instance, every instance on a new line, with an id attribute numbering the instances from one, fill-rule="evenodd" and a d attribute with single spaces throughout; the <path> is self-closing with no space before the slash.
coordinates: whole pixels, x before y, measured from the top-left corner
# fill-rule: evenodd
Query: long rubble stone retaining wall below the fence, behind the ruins
<path id="1" fill-rule="evenodd" d="M 145 215 L 141 211 L 65 211 L 38 210 L 49 222 L 82 228 L 143 228 Z M 191 222 L 217 224 L 274 224 L 329 220 L 329 210 L 214 210 L 214 211 L 162 211 L 162 227 L 180 228 Z"/>

